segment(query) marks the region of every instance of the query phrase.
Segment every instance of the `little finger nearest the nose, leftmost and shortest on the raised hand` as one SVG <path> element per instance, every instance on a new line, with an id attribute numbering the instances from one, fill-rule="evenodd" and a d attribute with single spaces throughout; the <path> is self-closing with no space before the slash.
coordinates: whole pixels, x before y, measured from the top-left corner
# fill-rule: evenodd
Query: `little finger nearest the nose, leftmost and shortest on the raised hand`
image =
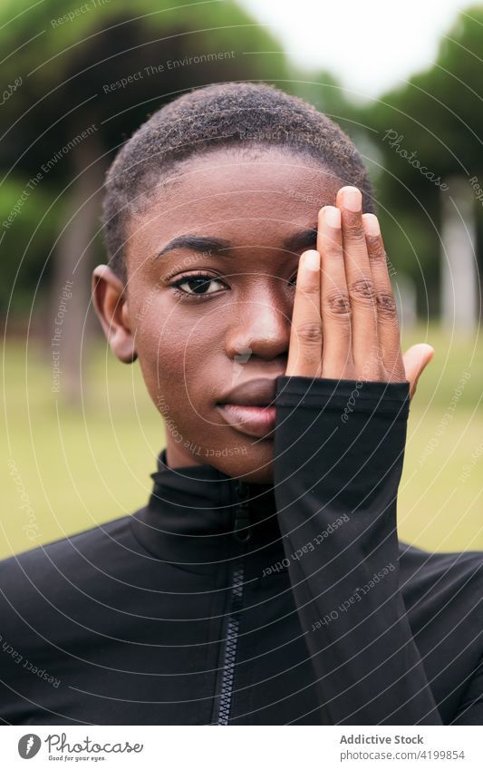
<path id="1" fill-rule="evenodd" d="M 304 251 L 298 263 L 285 375 L 322 376 L 320 254 L 314 249 Z"/>

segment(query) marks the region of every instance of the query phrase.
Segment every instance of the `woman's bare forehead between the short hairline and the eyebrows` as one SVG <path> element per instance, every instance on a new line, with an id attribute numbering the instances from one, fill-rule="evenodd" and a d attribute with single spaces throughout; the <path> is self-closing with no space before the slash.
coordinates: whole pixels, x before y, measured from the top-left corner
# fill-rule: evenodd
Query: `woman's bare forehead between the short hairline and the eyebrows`
<path id="1" fill-rule="evenodd" d="M 295 229 L 314 228 L 341 186 L 332 171 L 293 151 L 209 151 L 177 164 L 148 193 L 149 205 L 131 218 L 128 255 L 155 253 L 186 234 L 275 245 Z"/>

